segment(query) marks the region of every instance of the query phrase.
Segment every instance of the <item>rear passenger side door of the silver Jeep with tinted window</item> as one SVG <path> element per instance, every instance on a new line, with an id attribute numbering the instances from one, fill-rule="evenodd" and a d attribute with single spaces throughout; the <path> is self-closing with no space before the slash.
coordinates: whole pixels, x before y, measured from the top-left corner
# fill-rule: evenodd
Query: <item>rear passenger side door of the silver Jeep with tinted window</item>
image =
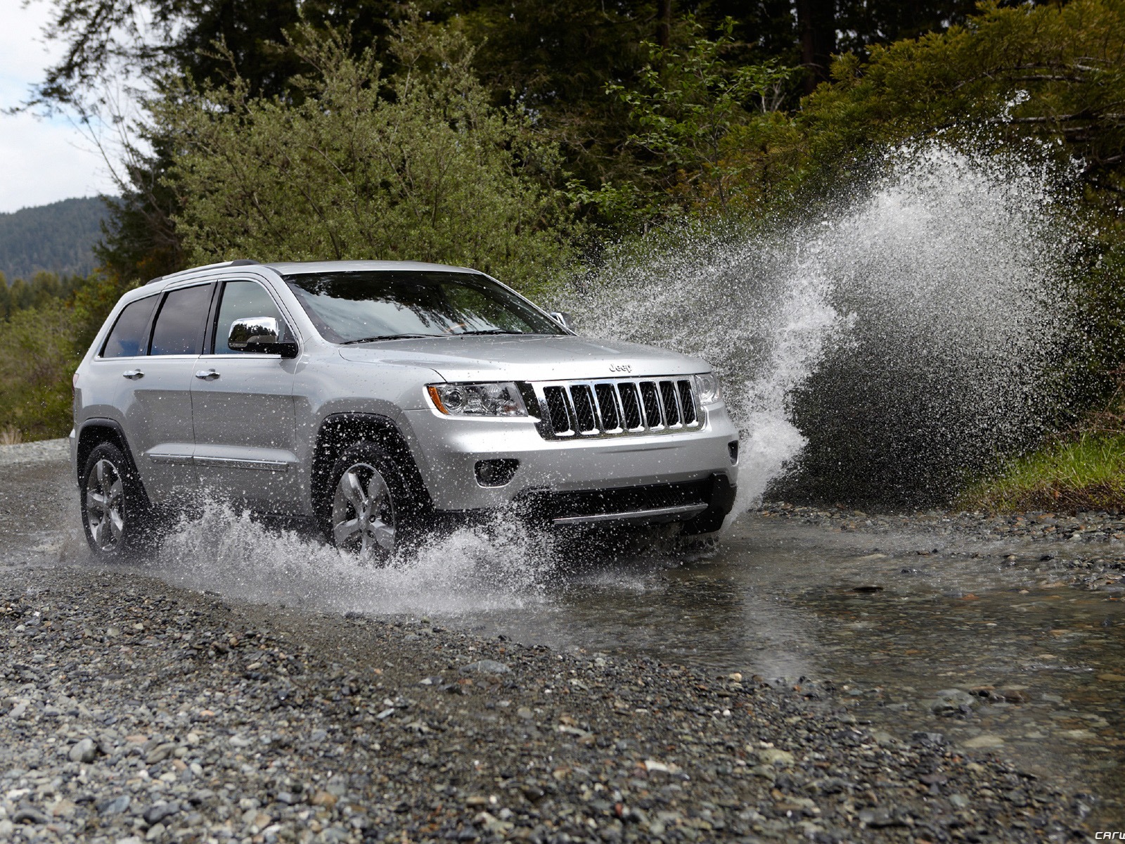
<path id="1" fill-rule="evenodd" d="M 133 401 L 125 413 L 126 432 L 153 501 L 179 497 L 198 485 L 191 463 L 191 384 L 214 291 L 208 282 L 165 293 L 152 322 L 147 356 L 136 361 L 129 376 Z"/>

